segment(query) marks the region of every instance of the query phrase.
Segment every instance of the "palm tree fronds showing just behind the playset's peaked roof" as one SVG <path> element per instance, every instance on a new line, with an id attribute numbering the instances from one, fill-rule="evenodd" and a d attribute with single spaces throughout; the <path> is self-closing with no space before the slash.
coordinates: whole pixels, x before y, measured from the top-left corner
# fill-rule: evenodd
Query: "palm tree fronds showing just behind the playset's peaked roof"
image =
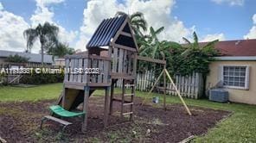
<path id="1" fill-rule="evenodd" d="M 148 23 L 145 21 L 144 14 L 141 12 L 135 12 L 131 15 L 128 15 L 125 12 L 118 11 L 116 16 L 128 16 L 131 23 L 131 28 L 136 35 L 142 36 L 142 32 L 147 31 Z"/>

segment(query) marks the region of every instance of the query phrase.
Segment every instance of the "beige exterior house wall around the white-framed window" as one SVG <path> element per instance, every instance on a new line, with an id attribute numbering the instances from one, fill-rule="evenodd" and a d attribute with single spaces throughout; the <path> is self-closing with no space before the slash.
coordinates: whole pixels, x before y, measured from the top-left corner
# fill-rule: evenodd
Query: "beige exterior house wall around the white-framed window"
<path id="1" fill-rule="evenodd" d="M 206 87 L 214 87 L 220 81 L 221 65 L 248 65 L 249 89 L 225 88 L 229 93 L 229 101 L 235 103 L 256 104 L 256 61 L 214 61 L 209 65 L 210 72 L 207 77 Z"/>

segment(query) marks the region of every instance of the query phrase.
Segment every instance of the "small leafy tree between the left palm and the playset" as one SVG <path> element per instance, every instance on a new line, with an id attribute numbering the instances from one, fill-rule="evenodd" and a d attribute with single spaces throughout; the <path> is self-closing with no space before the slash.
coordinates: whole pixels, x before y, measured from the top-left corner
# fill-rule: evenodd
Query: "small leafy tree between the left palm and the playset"
<path id="1" fill-rule="evenodd" d="M 57 57 L 64 57 L 67 54 L 74 54 L 74 48 L 68 47 L 67 44 L 59 43 L 57 46 L 48 47 L 48 54 L 57 56 Z"/>

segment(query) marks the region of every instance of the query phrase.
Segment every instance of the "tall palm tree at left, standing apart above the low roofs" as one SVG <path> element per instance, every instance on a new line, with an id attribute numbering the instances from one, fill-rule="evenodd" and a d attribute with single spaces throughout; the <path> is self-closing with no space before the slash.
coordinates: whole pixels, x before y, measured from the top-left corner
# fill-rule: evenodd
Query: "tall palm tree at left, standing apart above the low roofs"
<path id="1" fill-rule="evenodd" d="M 33 47 L 35 40 L 39 38 L 41 43 L 42 65 L 44 50 L 47 48 L 46 45 L 48 42 L 57 45 L 58 32 L 59 28 L 48 22 L 45 22 L 43 25 L 38 24 L 36 28 L 28 28 L 23 32 L 23 35 L 27 40 L 27 50 L 29 51 Z"/>

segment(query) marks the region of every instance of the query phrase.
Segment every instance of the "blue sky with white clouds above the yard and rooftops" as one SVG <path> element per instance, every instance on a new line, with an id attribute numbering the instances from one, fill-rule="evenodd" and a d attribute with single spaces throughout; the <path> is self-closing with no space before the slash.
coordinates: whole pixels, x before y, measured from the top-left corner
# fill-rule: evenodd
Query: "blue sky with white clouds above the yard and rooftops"
<path id="1" fill-rule="evenodd" d="M 255 0 L 0 0 L 0 50 L 23 52 L 23 31 L 39 23 L 59 27 L 59 39 L 86 50 L 99 23 L 117 11 L 144 13 L 149 26 L 164 27 L 160 40 L 182 43 L 195 31 L 200 41 L 256 39 Z M 32 53 L 38 53 L 37 40 Z"/>

